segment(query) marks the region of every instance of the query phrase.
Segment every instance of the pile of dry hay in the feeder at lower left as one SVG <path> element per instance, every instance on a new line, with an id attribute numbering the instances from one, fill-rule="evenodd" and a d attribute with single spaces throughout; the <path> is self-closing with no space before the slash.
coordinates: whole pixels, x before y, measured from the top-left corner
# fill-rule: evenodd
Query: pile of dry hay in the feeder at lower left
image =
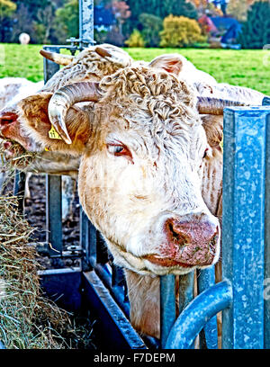
<path id="1" fill-rule="evenodd" d="M 0 196 L 0 341 L 8 349 L 72 348 L 72 338 L 89 328 L 76 330 L 67 311 L 42 296 L 40 264 L 28 244 L 33 229 L 17 208 L 16 197 Z"/>

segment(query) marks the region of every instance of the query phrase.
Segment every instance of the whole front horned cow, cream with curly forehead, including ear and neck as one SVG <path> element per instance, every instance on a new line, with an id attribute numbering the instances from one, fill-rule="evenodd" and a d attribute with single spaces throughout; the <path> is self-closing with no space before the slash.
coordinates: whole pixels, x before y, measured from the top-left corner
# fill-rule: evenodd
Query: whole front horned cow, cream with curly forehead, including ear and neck
<path id="1" fill-rule="evenodd" d="M 99 60 L 113 63 L 108 49 L 94 52 Z M 131 322 L 158 336 L 157 274 L 187 273 L 219 258 L 220 227 L 212 214 L 221 212 L 218 114 L 228 101 L 203 99 L 215 96 L 211 91 L 218 90 L 217 84 L 188 82 L 169 59 L 157 67 L 133 63 L 121 51 L 114 55 L 118 67 L 112 76 L 97 77 L 98 85 L 66 85 L 85 80 L 82 60 L 66 59 L 67 67 L 47 85 L 50 90 L 26 98 L 15 112 L 20 134 L 41 151 L 49 148 L 51 155 L 72 154 L 81 160 L 80 200 L 115 262 L 126 268 Z M 57 55 L 46 56 L 61 61 Z M 257 92 L 250 92 L 251 101 L 252 94 Z M 229 103 L 250 103 L 240 96 Z M 81 103 L 86 101 L 91 102 Z M 50 121 L 62 140 L 49 139 Z M 4 136 L 9 128 L 1 123 Z"/>

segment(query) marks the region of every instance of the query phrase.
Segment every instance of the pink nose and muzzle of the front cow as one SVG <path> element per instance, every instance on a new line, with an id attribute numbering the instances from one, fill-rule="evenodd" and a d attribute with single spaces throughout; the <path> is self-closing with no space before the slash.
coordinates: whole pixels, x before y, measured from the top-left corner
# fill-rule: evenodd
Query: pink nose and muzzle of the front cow
<path id="1" fill-rule="evenodd" d="M 162 255 L 167 259 L 188 266 L 212 264 L 219 246 L 219 226 L 206 214 L 167 219 L 164 230 L 167 242 Z"/>

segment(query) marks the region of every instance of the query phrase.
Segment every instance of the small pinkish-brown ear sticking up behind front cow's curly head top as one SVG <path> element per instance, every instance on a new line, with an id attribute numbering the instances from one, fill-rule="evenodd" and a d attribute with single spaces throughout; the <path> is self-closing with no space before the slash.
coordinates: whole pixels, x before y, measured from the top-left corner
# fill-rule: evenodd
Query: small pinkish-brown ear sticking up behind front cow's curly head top
<path id="1" fill-rule="evenodd" d="M 149 63 L 149 67 L 163 68 L 168 73 L 174 74 L 175 76 L 179 76 L 179 74 L 183 69 L 184 61 L 186 61 L 186 59 L 182 55 L 166 54 L 154 58 Z"/>

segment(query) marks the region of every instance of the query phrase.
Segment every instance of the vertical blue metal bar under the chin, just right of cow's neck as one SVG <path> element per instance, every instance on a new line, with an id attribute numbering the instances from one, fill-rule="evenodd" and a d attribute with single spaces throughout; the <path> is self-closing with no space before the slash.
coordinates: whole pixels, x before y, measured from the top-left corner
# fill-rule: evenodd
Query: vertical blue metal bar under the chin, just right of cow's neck
<path id="1" fill-rule="evenodd" d="M 160 336 L 161 347 L 166 345 L 175 323 L 175 275 L 160 276 Z"/>

